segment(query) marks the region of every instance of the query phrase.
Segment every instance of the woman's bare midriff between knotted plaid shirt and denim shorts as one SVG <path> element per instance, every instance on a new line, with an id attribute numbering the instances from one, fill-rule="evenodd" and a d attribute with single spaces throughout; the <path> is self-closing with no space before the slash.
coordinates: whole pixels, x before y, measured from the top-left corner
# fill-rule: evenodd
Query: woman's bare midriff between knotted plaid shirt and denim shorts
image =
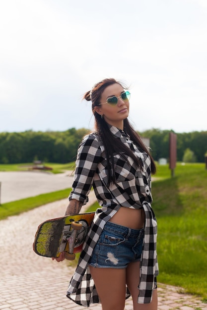
<path id="1" fill-rule="evenodd" d="M 129 207 L 120 207 L 109 221 L 132 229 L 140 229 L 144 226 L 144 210 L 143 208 L 131 209 Z"/>

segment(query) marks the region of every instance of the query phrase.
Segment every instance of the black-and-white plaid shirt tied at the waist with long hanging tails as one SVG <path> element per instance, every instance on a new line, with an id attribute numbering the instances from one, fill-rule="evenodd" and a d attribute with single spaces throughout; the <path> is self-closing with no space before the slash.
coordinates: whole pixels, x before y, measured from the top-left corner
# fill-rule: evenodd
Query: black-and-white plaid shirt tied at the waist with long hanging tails
<path id="1" fill-rule="evenodd" d="M 101 208 L 96 210 L 67 292 L 67 296 L 71 300 L 85 307 L 89 307 L 92 303 L 100 302 L 89 272 L 88 261 L 105 223 L 120 207 L 135 209 L 143 207 L 145 211 L 138 303 L 150 303 L 152 291 L 157 287 L 157 223 L 150 205 L 152 201 L 150 157 L 138 149 L 124 131 L 114 126 L 110 126 L 110 130 L 116 138 L 121 139 L 141 159 L 143 170 L 138 169 L 134 160 L 129 156 L 127 157 L 129 162 L 127 162 L 120 155 L 116 154 L 114 155 L 114 160 L 117 182 L 107 186 L 107 161 L 104 146 L 98 134 L 91 133 L 85 136 L 79 146 L 74 182 L 69 200 L 76 199 L 86 204 L 88 201 L 87 196 L 93 186 L 98 203 L 101 206 Z M 130 297 L 130 292 L 126 287 L 126 298 L 128 297 Z"/>

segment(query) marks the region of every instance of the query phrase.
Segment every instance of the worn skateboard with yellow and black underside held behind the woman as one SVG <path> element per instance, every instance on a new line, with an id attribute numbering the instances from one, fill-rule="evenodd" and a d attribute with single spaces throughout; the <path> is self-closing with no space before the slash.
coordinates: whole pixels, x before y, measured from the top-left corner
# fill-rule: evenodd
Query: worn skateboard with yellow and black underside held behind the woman
<path id="1" fill-rule="evenodd" d="M 35 234 L 34 252 L 50 258 L 65 252 L 65 258 L 75 259 L 75 253 L 82 250 L 94 214 L 87 212 L 44 221 Z"/>

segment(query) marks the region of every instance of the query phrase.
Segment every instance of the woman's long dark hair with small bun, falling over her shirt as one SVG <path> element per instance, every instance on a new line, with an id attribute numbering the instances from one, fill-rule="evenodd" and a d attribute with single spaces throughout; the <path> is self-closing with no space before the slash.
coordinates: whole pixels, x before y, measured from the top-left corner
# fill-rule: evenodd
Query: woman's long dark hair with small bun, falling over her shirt
<path id="1" fill-rule="evenodd" d="M 124 87 L 119 81 L 116 81 L 115 79 L 104 79 L 101 82 L 94 85 L 91 91 L 88 91 L 84 94 L 83 99 L 87 101 L 92 101 L 92 111 L 95 117 L 95 130 L 100 136 L 105 152 L 106 152 L 106 160 L 107 160 L 107 166 L 108 169 L 108 185 L 110 182 L 115 182 L 115 170 L 114 170 L 114 153 L 119 154 L 121 157 L 124 158 L 124 160 L 127 160 L 126 155 L 130 156 L 135 160 L 136 164 L 138 165 L 139 169 L 142 170 L 142 162 L 139 158 L 135 156 L 135 154 L 132 152 L 132 150 L 128 147 L 126 147 L 120 139 L 117 139 L 110 131 L 109 126 L 107 122 L 104 120 L 104 118 L 101 118 L 101 115 L 99 115 L 94 107 L 98 106 L 100 104 L 100 99 L 103 91 L 106 89 L 106 87 L 113 85 L 113 84 L 120 84 L 123 88 L 127 89 L 127 87 Z M 141 141 L 140 136 L 138 133 L 134 130 L 134 128 L 129 123 L 128 119 L 124 119 L 124 131 L 126 134 L 130 136 L 130 139 L 137 145 L 138 148 L 146 152 L 150 158 L 151 158 L 151 172 L 154 174 L 156 172 L 156 166 L 155 162 L 150 155 L 149 151 Z M 111 168 L 112 172 L 111 172 Z"/>

